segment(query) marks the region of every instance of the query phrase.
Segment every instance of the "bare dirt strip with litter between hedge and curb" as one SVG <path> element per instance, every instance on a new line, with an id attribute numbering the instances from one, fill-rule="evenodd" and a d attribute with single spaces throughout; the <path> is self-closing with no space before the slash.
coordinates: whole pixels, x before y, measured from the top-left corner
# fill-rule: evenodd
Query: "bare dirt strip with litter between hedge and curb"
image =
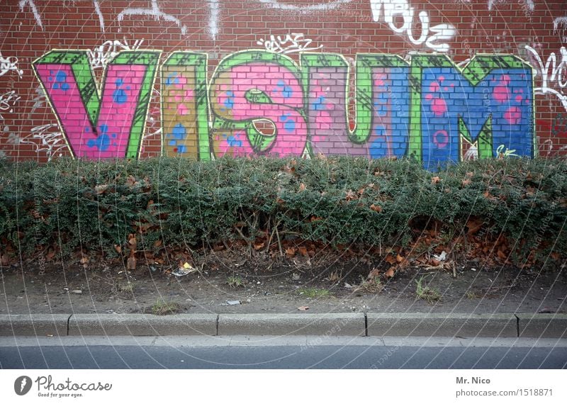
<path id="1" fill-rule="evenodd" d="M 0 314 L 26 313 L 567 313 L 567 269 L 554 271 L 454 263 L 455 271 L 334 257 L 258 261 L 246 254 L 208 257 L 198 271 L 179 264 L 101 262 L 11 264 L 0 268 Z M 380 283 L 364 284 L 373 268 Z M 454 277 L 456 275 L 456 277 Z M 232 287 L 228 284 L 232 281 Z M 417 296 L 417 284 L 430 288 Z M 427 293 L 432 298 L 425 299 Z M 230 303 L 229 303 L 230 302 Z M 167 310 L 166 310 L 167 311 Z M 169 311 L 167 311 L 169 313 Z"/>

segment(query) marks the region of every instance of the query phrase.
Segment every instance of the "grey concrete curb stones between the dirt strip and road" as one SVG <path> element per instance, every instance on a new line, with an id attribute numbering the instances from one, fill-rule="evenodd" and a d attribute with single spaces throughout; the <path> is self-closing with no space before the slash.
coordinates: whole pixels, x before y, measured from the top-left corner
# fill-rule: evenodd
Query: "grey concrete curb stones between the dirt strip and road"
<path id="1" fill-rule="evenodd" d="M 0 315 L 0 336 L 325 335 L 567 338 L 567 314 Z"/>

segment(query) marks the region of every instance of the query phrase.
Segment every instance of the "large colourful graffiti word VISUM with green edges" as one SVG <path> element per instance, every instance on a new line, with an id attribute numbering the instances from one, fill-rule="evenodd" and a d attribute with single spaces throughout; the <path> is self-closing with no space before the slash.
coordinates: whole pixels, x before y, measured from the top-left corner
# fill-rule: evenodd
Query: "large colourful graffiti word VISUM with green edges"
<path id="1" fill-rule="evenodd" d="M 52 51 L 34 62 L 74 156 L 137 157 L 157 57 L 120 52 L 108 64 L 101 96 L 85 69 L 86 52 Z M 173 52 L 157 94 L 164 155 L 411 156 L 437 168 L 535 154 L 532 67 L 515 56 L 477 55 L 461 69 L 445 55 L 412 55 L 409 62 L 357 55 L 354 122 L 347 60 L 309 52 L 300 59 L 236 52 L 208 79 L 206 54 Z"/>

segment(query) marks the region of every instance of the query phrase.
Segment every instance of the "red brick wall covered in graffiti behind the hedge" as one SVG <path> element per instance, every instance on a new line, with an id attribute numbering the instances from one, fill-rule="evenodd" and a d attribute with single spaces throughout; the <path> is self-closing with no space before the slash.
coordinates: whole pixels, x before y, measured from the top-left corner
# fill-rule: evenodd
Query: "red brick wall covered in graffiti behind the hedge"
<path id="1" fill-rule="evenodd" d="M 567 151 L 566 0 L 0 2 L 0 157 Z"/>

